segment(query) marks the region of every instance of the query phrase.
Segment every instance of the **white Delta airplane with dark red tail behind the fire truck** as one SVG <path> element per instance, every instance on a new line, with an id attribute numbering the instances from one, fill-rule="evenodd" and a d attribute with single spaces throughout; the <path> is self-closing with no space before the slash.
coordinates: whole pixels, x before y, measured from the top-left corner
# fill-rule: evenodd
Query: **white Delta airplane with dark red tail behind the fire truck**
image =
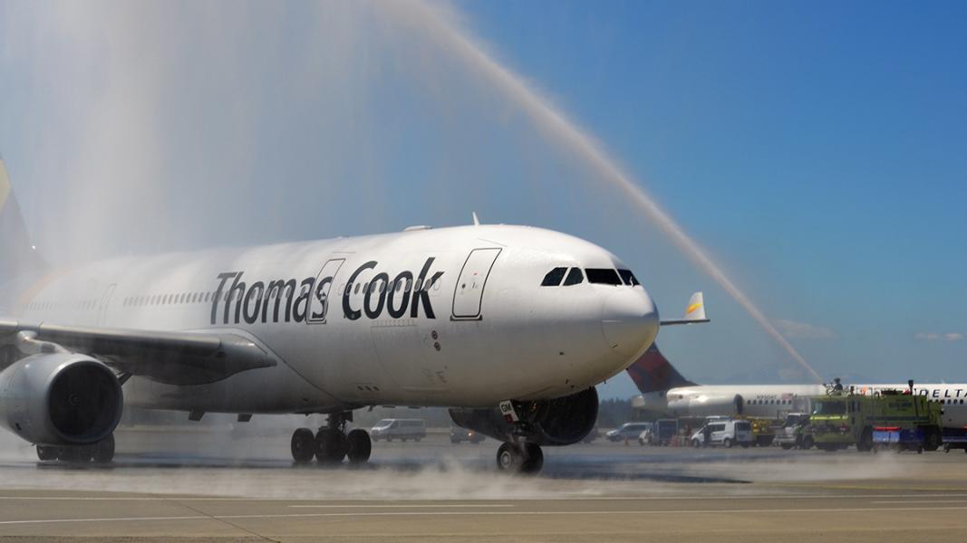
<path id="1" fill-rule="evenodd" d="M 651 347 L 628 368 L 641 395 L 631 399 L 635 409 L 680 417 L 735 416 L 783 418 L 806 411 L 808 398 L 826 394 L 825 385 L 696 385 L 684 378 L 659 351 Z M 909 385 L 854 385 L 845 390 L 873 394 L 878 390 L 907 390 Z M 967 428 L 967 385 L 917 385 L 913 392 L 943 405 L 944 427 Z"/>

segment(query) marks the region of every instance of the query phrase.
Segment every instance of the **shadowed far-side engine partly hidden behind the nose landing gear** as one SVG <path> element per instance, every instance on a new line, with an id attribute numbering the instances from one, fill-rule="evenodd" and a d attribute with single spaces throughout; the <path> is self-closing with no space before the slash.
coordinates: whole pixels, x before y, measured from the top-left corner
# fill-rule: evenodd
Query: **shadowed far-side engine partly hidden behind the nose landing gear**
<path id="1" fill-rule="evenodd" d="M 517 427 L 528 443 L 570 445 L 585 438 L 598 421 L 598 391 L 588 388 L 554 400 L 514 402 L 525 424 Z M 498 409 L 452 409 L 450 417 L 463 428 L 502 442 L 512 441 L 514 425 Z"/>

